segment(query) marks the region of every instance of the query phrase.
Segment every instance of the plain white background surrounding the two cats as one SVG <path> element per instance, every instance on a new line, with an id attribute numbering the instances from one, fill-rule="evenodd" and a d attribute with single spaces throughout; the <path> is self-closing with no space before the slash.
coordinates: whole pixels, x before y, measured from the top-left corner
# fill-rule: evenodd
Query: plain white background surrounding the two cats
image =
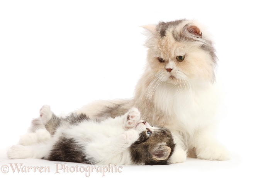
<path id="1" fill-rule="evenodd" d="M 146 63 L 140 26 L 187 18 L 208 27 L 215 42 L 224 86 L 218 137 L 232 159 L 127 166 L 120 176 L 255 176 L 254 7 L 247 0 L 0 1 L 1 165 L 42 105 L 68 113 L 94 100 L 132 98 Z"/>

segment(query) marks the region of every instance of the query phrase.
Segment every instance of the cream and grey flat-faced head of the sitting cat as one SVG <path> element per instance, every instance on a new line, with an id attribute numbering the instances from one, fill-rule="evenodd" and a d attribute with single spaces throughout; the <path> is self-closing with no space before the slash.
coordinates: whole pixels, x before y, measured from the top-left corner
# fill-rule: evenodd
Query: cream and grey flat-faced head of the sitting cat
<path id="1" fill-rule="evenodd" d="M 185 83 L 215 80 L 217 57 L 205 29 L 195 21 L 176 20 L 144 26 L 149 32 L 148 65 L 159 80 Z"/>

